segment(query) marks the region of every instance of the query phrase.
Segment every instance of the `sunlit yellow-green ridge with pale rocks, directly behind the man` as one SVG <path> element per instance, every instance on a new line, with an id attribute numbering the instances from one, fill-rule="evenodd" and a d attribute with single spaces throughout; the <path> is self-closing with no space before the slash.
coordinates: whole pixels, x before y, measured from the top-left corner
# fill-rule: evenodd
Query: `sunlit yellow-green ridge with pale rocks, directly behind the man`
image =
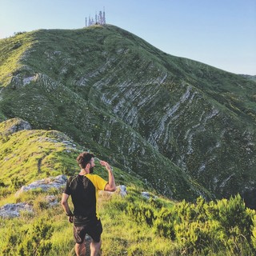
<path id="1" fill-rule="evenodd" d="M 0 123 L 0 134 L 1 195 L 41 178 L 70 176 L 79 171 L 76 158 L 84 149 L 62 132 L 31 130 L 28 122 L 14 118 Z M 95 169 L 107 178 L 98 162 Z M 130 175 L 114 167 L 114 174 L 118 184 L 126 182 L 126 185 L 146 188 L 135 173 Z"/>

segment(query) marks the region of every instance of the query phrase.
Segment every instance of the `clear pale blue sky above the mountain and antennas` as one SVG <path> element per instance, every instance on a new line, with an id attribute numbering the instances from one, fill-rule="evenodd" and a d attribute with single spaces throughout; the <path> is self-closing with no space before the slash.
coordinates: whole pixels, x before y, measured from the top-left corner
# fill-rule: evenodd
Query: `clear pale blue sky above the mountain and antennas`
<path id="1" fill-rule="evenodd" d="M 103 6 L 106 23 L 168 54 L 256 74 L 256 0 L 0 0 L 0 38 L 79 29 Z"/>

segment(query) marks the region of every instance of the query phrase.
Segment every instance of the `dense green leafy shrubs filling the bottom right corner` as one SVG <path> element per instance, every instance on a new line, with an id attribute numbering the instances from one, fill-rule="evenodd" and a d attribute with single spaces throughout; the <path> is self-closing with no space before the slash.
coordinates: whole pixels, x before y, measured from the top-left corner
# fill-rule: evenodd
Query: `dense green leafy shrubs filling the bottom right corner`
<path id="1" fill-rule="evenodd" d="M 175 242 L 182 255 L 254 255 L 255 211 L 246 209 L 238 194 L 229 200 L 195 203 L 185 200 L 173 207 L 128 203 L 127 213 L 138 223 L 153 226 L 156 234 Z"/>

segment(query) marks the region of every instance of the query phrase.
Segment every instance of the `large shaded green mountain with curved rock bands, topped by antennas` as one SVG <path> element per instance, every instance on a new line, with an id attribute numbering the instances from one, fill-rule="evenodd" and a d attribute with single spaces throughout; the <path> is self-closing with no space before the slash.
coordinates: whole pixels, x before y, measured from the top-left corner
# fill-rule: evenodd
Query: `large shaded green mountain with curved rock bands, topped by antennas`
<path id="1" fill-rule="evenodd" d="M 38 30 L 0 46 L 3 118 L 60 130 L 169 197 L 255 190 L 253 79 L 115 26 Z"/>

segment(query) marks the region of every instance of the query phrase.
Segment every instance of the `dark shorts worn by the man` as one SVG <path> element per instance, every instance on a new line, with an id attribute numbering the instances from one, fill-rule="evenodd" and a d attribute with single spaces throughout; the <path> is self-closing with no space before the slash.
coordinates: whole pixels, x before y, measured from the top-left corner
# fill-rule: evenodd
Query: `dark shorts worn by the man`
<path id="1" fill-rule="evenodd" d="M 86 234 L 94 240 L 94 242 L 100 242 L 102 234 L 102 222 L 100 220 L 94 220 L 87 222 L 86 224 L 76 226 L 74 224 L 74 240 L 81 244 L 86 238 Z"/>

